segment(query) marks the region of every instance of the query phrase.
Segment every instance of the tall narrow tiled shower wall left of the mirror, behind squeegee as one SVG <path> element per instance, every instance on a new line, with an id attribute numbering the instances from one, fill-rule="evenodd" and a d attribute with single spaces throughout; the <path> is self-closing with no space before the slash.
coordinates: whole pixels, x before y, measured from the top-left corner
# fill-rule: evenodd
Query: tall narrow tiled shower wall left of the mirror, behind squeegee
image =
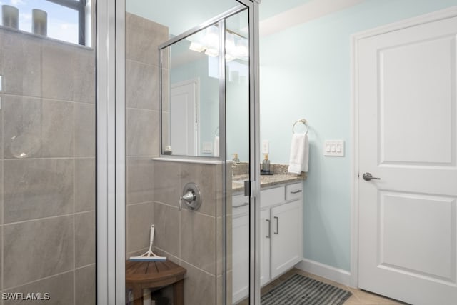
<path id="1" fill-rule="evenodd" d="M 159 156 L 159 41 L 165 26 L 126 13 L 126 256 L 149 246 Z"/>

